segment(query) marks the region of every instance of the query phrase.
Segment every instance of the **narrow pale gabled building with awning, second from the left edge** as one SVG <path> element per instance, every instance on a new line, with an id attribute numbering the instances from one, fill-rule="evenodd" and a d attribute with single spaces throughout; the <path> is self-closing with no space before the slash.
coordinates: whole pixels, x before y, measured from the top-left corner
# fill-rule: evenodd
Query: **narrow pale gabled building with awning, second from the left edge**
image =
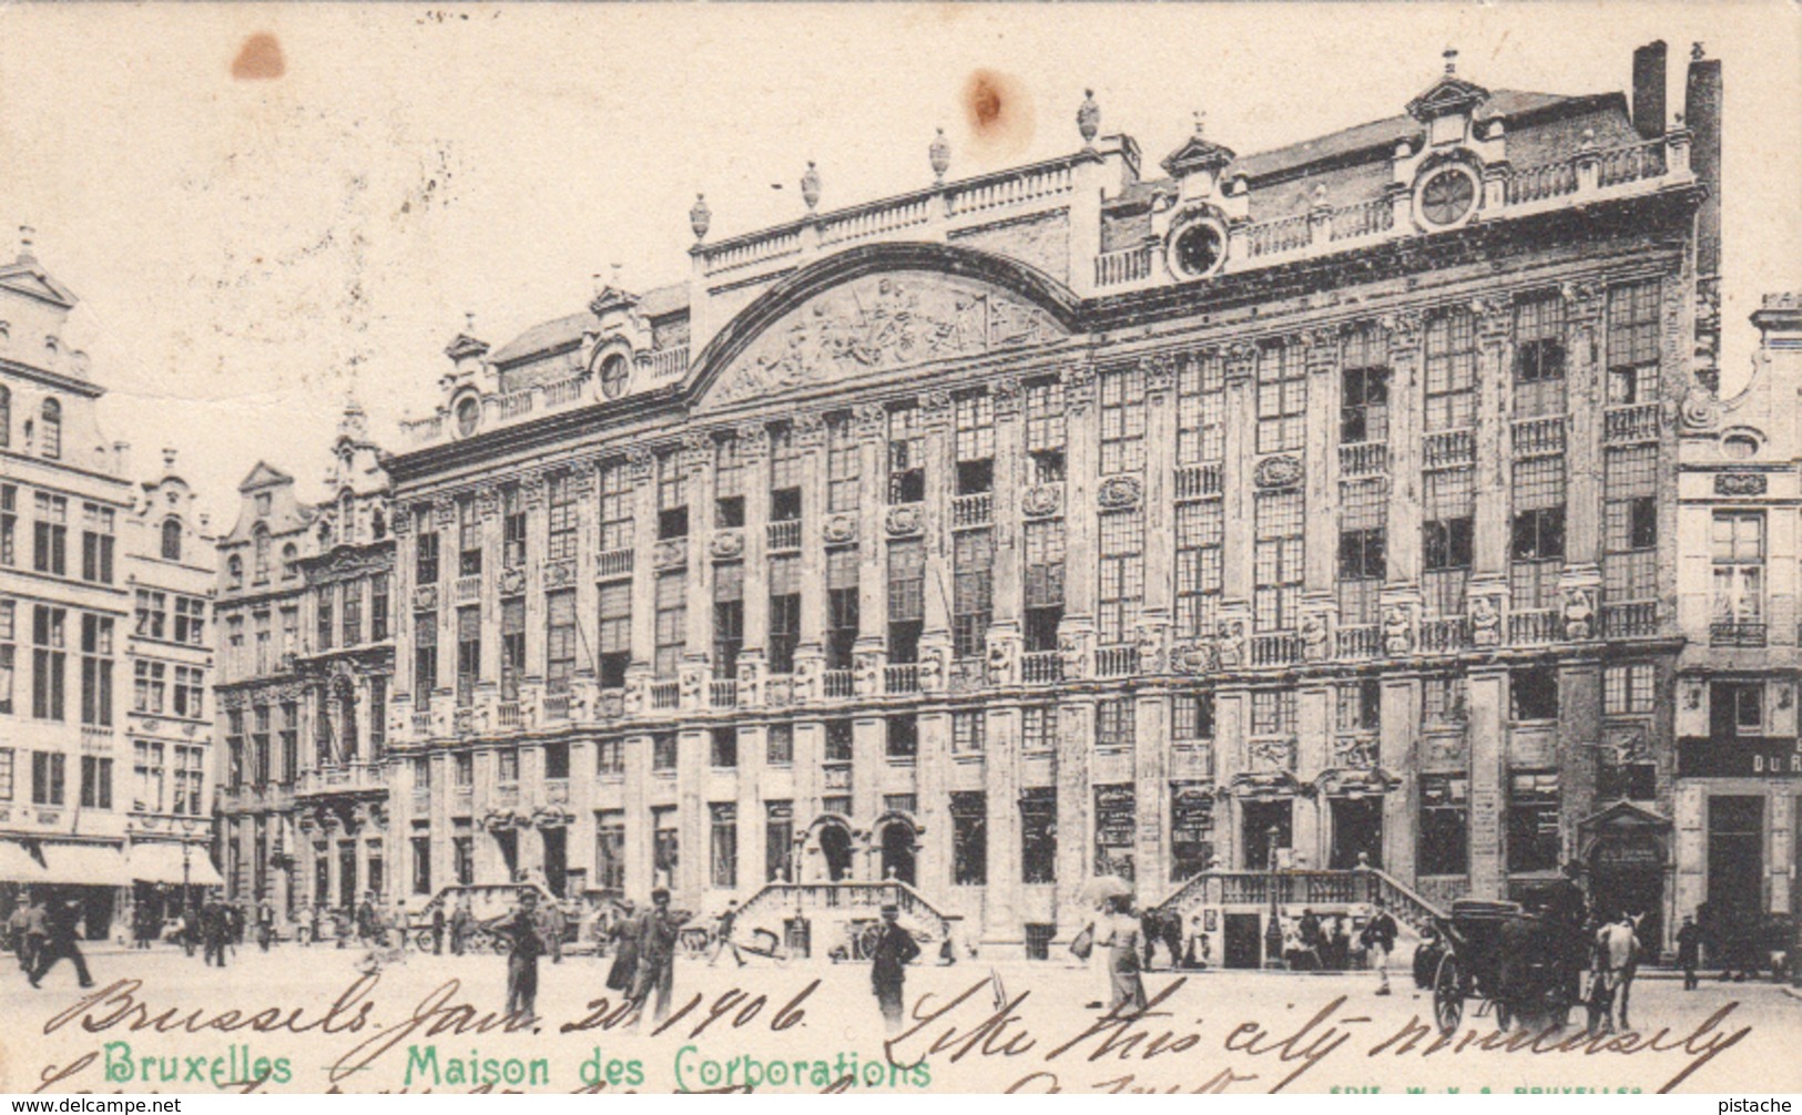
<path id="1" fill-rule="evenodd" d="M 119 796 L 130 807 L 132 906 L 146 904 L 155 924 L 180 911 L 184 884 L 222 881 L 211 856 L 216 555 L 175 456 L 162 450 L 162 474 L 139 486 L 123 521 L 132 627 L 121 686 L 132 686 L 124 713 L 132 766 L 121 755 Z"/>

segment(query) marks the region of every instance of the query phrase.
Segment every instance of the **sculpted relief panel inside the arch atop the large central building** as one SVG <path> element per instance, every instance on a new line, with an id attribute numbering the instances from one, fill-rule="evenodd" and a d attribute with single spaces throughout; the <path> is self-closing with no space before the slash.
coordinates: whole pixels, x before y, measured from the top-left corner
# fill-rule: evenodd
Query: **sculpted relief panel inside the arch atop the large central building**
<path id="1" fill-rule="evenodd" d="M 712 394 L 742 402 L 1061 335 L 1051 313 L 986 283 L 937 272 L 865 276 L 807 299 L 751 340 Z"/>

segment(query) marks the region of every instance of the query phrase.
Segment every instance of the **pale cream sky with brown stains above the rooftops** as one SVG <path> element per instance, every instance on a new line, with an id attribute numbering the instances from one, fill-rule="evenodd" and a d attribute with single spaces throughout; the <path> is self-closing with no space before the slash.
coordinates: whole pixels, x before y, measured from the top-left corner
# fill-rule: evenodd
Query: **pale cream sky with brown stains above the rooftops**
<path id="1" fill-rule="evenodd" d="M 252 36 L 279 76 L 234 76 L 272 68 Z M 1155 175 L 1195 110 L 1252 153 L 1398 113 L 1449 47 L 1490 88 L 1589 94 L 1629 90 L 1654 38 L 1672 112 L 1692 41 L 1725 67 L 1732 389 L 1759 295 L 1802 288 L 1797 4 L 0 0 L 0 256 L 36 229 L 108 436 L 146 477 L 178 449 L 229 524 L 258 459 L 321 494 L 351 389 L 398 449 L 465 313 L 499 346 L 613 265 L 685 279 L 699 191 L 717 240 L 800 216 L 807 160 L 822 209 L 930 184 L 941 126 L 951 178 L 1069 153 L 1085 88 Z M 977 72 L 1018 113 L 1000 137 L 966 117 Z"/>

